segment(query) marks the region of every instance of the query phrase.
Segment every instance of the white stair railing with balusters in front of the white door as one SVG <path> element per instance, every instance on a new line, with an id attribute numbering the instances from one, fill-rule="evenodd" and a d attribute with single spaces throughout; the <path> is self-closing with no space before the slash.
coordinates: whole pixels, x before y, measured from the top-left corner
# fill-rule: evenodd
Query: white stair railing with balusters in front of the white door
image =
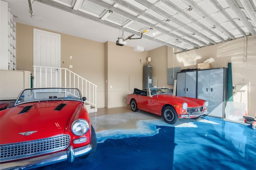
<path id="1" fill-rule="evenodd" d="M 33 72 L 34 88 L 78 88 L 82 96 L 87 98 L 85 102 L 95 107 L 96 111 L 97 86 L 92 82 L 89 82 L 67 68 L 33 66 Z"/>

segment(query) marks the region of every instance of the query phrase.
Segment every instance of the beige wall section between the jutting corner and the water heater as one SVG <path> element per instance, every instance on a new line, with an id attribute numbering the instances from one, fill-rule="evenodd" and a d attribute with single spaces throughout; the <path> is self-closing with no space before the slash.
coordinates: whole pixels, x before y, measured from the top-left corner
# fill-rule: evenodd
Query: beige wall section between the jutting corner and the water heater
<path id="1" fill-rule="evenodd" d="M 146 62 L 148 51 L 139 53 L 133 51 L 132 47 L 117 46 L 113 42 L 106 42 L 106 46 L 106 107 L 127 106 L 125 96 L 132 93 L 134 88 L 142 89 L 143 63 Z"/>

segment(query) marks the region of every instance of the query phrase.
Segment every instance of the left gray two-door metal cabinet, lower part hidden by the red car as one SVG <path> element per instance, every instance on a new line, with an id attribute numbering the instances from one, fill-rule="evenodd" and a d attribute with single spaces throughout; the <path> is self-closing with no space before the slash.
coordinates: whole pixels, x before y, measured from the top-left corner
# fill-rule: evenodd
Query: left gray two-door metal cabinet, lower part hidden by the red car
<path id="1" fill-rule="evenodd" d="M 196 98 L 196 71 L 177 73 L 177 96 Z"/>

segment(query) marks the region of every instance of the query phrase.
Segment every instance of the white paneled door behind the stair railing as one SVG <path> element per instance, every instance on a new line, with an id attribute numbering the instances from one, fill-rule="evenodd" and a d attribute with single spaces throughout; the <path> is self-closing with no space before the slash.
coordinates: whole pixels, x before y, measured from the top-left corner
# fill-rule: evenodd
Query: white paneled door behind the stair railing
<path id="1" fill-rule="evenodd" d="M 60 34 L 34 29 L 34 88 L 60 87 Z M 53 68 L 49 68 L 53 67 Z"/>

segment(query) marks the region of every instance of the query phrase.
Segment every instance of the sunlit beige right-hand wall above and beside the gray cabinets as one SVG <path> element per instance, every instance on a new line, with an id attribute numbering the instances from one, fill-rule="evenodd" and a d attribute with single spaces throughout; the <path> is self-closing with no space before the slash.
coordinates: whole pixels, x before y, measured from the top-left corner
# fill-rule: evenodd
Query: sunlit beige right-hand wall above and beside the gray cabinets
<path id="1" fill-rule="evenodd" d="M 244 47 L 247 46 L 247 53 L 244 53 Z M 228 41 L 209 47 L 204 47 L 192 51 L 177 53 L 171 47 L 167 47 L 167 68 L 181 67 L 182 69 L 197 68 L 198 63 L 203 63 L 206 59 L 212 57 L 216 59 L 212 63 L 212 68 L 228 67 L 232 63 L 232 82 L 233 86 L 245 85 L 246 91 L 234 90 L 234 102 L 246 104 L 248 114 L 256 115 L 256 38 L 250 36 L 247 38 Z M 157 51 L 154 49 L 152 51 Z M 148 57 L 152 56 L 149 51 Z M 156 53 L 158 54 L 158 53 Z M 159 53 L 160 54 L 160 53 Z M 247 56 L 244 62 L 244 56 Z M 164 58 L 164 54 L 160 54 Z M 159 65 L 152 63 L 154 69 L 160 69 Z M 167 84 L 167 83 L 166 83 Z"/>

